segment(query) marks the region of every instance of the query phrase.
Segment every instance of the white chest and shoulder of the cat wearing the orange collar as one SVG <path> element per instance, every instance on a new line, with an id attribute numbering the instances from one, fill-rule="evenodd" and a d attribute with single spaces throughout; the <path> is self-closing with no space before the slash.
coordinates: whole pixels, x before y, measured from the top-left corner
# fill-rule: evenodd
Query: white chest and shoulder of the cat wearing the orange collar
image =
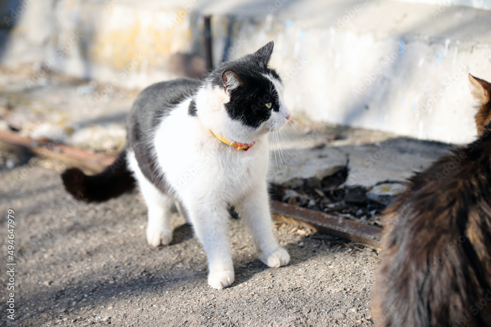
<path id="1" fill-rule="evenodd" d="M 159 126 L 154 144 L 162 173 L 178 196 L 234 202 L 264 181 L 269 163 L 266 140 L 248 151 L 236 150 L 179 109 Z"/>

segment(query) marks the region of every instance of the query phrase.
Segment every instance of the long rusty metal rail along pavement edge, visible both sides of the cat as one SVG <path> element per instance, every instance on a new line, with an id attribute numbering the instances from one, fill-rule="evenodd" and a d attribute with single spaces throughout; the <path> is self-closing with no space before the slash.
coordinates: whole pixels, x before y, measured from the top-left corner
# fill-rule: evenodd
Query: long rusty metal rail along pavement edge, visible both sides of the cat
<path id="1" fill-rule="evenodd" d="M 35 141 L 15 132 L 0 131 L 0 143 L 7 145 L 7 147 L 21 147 L 37 155 L 96 172 L 112 164 L 115 159 L 114 156 L 57 144 L 52 141 Z M 300 220 L 315 226 L 321 232 L 380 248 L 382 228 L 360 224 L 349 219 L 279 201 L 271 201 L 271 209 L 277 215 Z"/>

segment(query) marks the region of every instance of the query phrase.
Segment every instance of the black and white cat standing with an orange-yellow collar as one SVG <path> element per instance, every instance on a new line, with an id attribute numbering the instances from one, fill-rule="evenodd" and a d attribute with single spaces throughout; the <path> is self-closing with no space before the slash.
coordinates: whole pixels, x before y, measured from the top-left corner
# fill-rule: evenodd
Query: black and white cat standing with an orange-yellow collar
<path id="1" fill-rule="evenodd" d="M 266 174 L 267 134 L 290 118 L 283 83 L 268 67 L 273 42 L 222 63 L 204 81 L 176 79 L 143 90 L 128 117 L 128 142 L 115 163 L 95 176 L 77 168 L 65 188 L 85 201 L 105 201 L 139 185 L 148 206 L 147 241 L 172 240 L 176 201 L 208 256 L 208 284 L 234 282 L 229 206 L 250 229 L 259 258 L 270 267 L 290 255 L 273 237 Z"/>

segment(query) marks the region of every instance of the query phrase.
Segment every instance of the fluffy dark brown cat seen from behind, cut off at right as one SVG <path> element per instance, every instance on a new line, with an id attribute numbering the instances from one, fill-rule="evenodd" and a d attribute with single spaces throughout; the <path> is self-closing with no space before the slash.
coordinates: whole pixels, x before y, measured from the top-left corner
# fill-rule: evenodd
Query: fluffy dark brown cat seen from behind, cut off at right
<path id="1" fill-rule="evenodd" d="M 477 140 L 412 176 L 384 212 L 378 326 L 491 326 L 491 84 L 469 80 Z"/>

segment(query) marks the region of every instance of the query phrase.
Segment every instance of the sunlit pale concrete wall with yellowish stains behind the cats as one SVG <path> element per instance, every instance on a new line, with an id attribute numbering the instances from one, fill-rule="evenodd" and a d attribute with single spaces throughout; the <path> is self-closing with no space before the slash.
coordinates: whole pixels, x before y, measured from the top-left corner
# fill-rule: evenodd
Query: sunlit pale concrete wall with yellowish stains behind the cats
<path id="1" fill-rule="evenodd" d="M 236 58 L 275 41 L 272 66 L 295 115 L 456 143 L 475 135 L 466 75 L 491 80 L 491 12 L 475 8 L 380 0 L 40 2 L 26 3 L 2 65 L 34 63 L 39 75 L 45 67 L 108 88 L 144 87 L 179 75 L 172 55 L 204 55 L 202 16 L 213 14 L 216 63 L 224 52 Z"/>

